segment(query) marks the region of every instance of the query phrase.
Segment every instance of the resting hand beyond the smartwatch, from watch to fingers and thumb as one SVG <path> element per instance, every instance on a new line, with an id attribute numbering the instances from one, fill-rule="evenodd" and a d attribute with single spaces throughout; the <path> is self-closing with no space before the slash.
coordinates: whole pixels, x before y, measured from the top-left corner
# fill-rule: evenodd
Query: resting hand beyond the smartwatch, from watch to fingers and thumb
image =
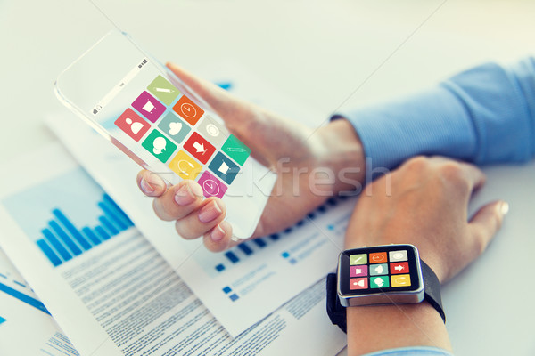
<path id="1" fill-rule="evenodd" d="M 485 250 L 502 223 L 505 202 L 481 207 L 468 220 L 468 202 L 485 182 L 477 167 L 446 158 L 412 158 L 368 185 L 346 231 L 346 247 L 408 243 L 440 282 Z"/>

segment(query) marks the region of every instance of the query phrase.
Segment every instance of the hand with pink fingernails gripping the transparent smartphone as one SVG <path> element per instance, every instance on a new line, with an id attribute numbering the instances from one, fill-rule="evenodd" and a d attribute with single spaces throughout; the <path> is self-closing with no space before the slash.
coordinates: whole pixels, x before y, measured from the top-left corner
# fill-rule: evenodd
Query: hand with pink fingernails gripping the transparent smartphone
<path id="1" fill-rule="evenodd" d="M 341 190 L 354 190 L 358 188 L 356 183 L 363 181 L 362 146 L 346 120 L 335 120 L 313 131 L 239 100 L 173 64 L 168 67 L 215 109 L 229 131 L 251 148 L 253 158 L 277 174 L 275 188 L 252 238 L 297 223 L 326 198 Z M 323 174 L 317 173 L 320 168 Z M 344 168 L 354 169 L 342 176 L 339 173 Z M 333 175 L 327 177 L 325 172 Z M 317 178 L 317 183 L 310 185 L 310 177 Z M 224 202 L 214 197 L 204 199 L 196 182 L 183 181 L 168 188 L 158 175 L 148 171 L 140 172 L 137 182 L 144 194 L 155 197 L 155 213 L 163 220 L 176 221 L 177 232 L 183 238 L 203 236 L 204 244 L 212 251 L 235 244 L 230 240 L 232 227 L 224 221 Z"/>

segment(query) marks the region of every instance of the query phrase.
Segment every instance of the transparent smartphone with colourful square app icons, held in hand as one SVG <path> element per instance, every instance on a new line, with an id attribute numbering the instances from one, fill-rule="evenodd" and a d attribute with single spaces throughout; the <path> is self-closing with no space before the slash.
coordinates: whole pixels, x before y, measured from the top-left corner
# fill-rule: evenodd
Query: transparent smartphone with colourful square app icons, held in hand
<path id="1" fill-rule="evenodd" d="M 233 239 L 251 236 L 276 174 L 127 34 L 104 36 L 62 72 L 55 90 L 63 104 L 140 166 L 171 184 L 192 179 L 205 197 L 222 198 Z"/>

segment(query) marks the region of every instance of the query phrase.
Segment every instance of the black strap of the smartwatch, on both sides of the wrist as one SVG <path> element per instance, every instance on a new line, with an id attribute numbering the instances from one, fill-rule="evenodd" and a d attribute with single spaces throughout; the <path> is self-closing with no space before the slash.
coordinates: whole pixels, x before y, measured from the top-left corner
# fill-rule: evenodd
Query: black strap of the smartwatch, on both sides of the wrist
<path id="1" fill-rule="evenodd" d="M 446 323 L 446 314 L 442 309 L 442 298 L 440 297 L 440 281 L 431 267 L 420 260 L 422 266 L 422 278 L 424 279 L 424 299 L 439 312 L 440 317 Z M 336 273 L 327 274 L 327 315 L 334 325 L 338 325 L 344 333 L 347 333 L 346 308 L 340 303 L 337 294 Z"/>

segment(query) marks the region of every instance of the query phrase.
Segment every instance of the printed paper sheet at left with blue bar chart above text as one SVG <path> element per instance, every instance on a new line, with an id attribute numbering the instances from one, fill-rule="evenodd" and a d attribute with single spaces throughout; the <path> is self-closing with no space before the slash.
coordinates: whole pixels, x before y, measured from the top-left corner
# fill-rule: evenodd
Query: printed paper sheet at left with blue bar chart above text
<path id="1" fill-rule="evenodd" d="M 80 354 L 342 349 L 345 336 L 325 315 L 323 281 L 233 339 L 62 147 L 10 166 L 21 179 L 0 187 L 0 245 Z"/>

